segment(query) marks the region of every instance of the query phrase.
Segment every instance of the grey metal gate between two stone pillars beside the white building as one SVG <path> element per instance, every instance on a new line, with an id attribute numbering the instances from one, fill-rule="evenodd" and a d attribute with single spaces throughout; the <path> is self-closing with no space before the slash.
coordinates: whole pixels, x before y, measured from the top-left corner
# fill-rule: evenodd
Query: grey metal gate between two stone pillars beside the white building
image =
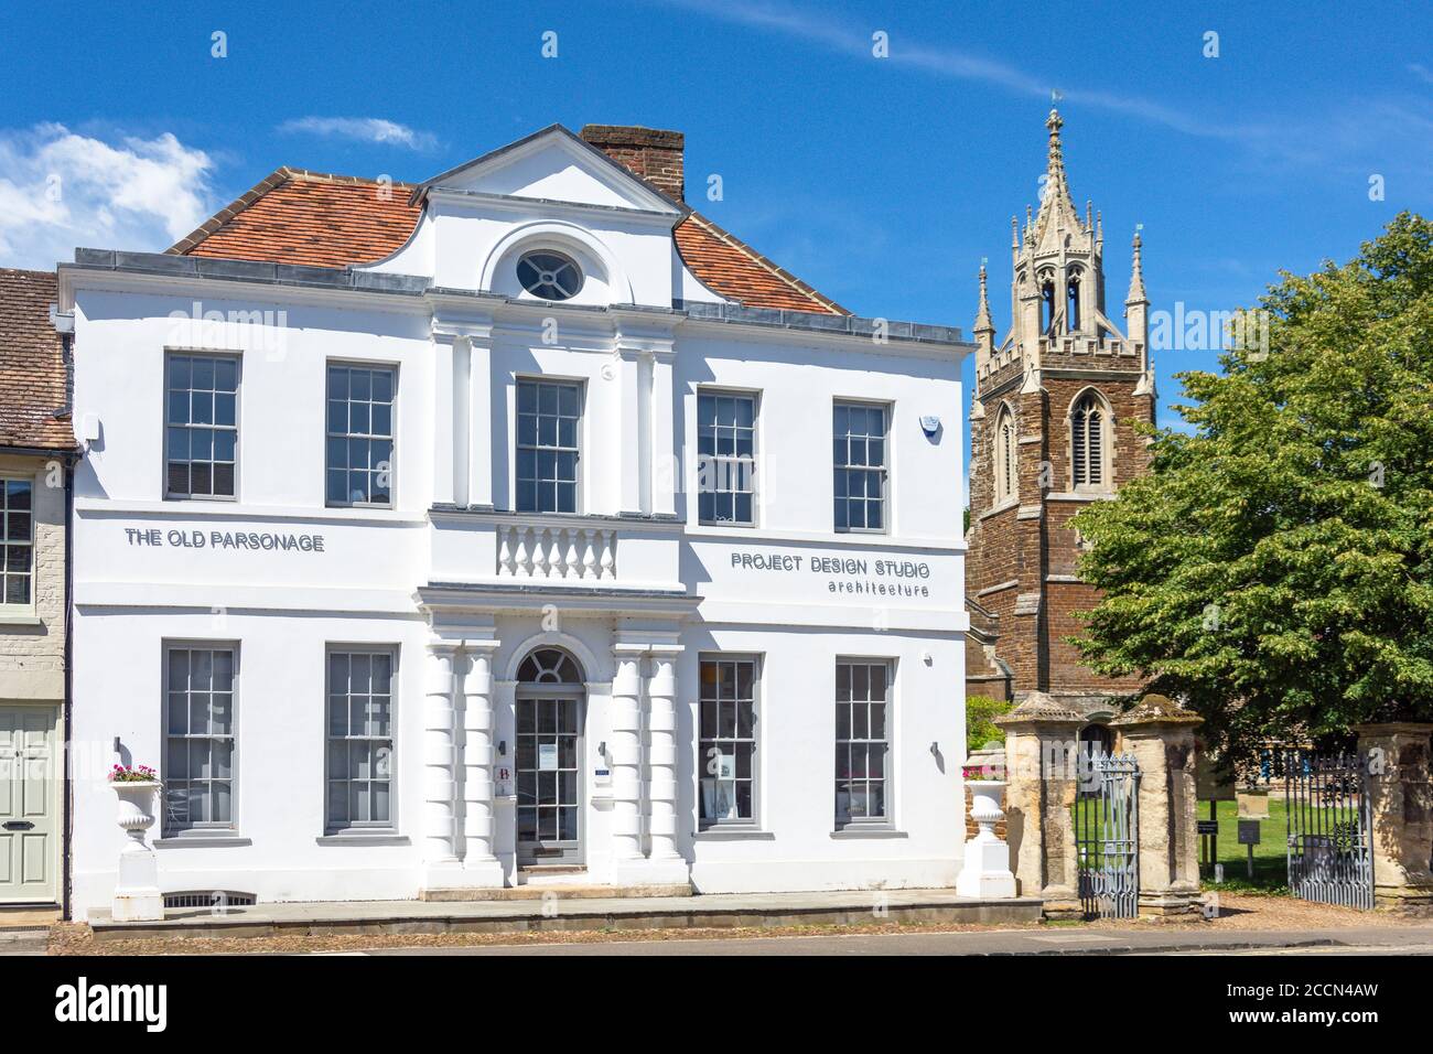
<path id="1" fill-rule="evenodd" d="M 1085 915 L 1135 918 L 1139 913 L 1139 766 L 1132 754 L 1079 756 L 1073 819 Z"/>

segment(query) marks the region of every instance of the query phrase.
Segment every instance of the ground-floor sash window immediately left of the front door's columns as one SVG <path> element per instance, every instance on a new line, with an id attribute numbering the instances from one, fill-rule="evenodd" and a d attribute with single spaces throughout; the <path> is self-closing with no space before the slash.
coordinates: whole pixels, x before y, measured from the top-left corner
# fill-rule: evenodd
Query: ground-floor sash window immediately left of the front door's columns
<path id="1" fill-rule="evenodd" d="M 328 651 L 325 830 L 391 829 L 393 648 Z"/>

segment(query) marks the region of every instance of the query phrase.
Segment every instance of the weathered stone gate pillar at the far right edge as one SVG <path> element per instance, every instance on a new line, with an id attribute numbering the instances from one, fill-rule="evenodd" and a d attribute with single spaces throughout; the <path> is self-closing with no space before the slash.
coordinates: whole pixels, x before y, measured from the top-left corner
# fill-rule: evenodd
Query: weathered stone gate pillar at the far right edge
<path id="1" fill-rule="evenodd" d="M 1379 908 L 1433 909 L 1433 787 L 1429 783 L 1429 734 L 1433 724 L 1397 721 L 1360 724 L 1373 822 L 1373 899 Z"/>

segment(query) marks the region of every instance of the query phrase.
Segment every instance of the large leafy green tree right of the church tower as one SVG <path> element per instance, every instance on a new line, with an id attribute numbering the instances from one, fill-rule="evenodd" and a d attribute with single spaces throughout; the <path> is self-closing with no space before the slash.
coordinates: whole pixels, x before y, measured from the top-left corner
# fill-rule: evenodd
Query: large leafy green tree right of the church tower
<path id="1" fill-rule="evenodd" d="M 1075 521 L 1086 661 L 1231 754 L 1433 718 L 1433 224 L 1281 278 L 1267 351 L 1178 374 L 1192 435 L 1151 430 L 1152 470 Z"/>

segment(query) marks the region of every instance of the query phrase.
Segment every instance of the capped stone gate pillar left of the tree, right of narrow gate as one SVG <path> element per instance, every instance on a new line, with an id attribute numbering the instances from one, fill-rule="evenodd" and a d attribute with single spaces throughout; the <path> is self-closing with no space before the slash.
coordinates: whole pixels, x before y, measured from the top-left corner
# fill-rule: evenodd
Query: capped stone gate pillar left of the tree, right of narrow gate
<path id="1" fill-rule="evenodd" d="M 1139 764 L 1139 913 L 1199 906 L 1194 730 L 1204 723 L 1165 695 L 1145 695 L 1111 727 Z"/>

